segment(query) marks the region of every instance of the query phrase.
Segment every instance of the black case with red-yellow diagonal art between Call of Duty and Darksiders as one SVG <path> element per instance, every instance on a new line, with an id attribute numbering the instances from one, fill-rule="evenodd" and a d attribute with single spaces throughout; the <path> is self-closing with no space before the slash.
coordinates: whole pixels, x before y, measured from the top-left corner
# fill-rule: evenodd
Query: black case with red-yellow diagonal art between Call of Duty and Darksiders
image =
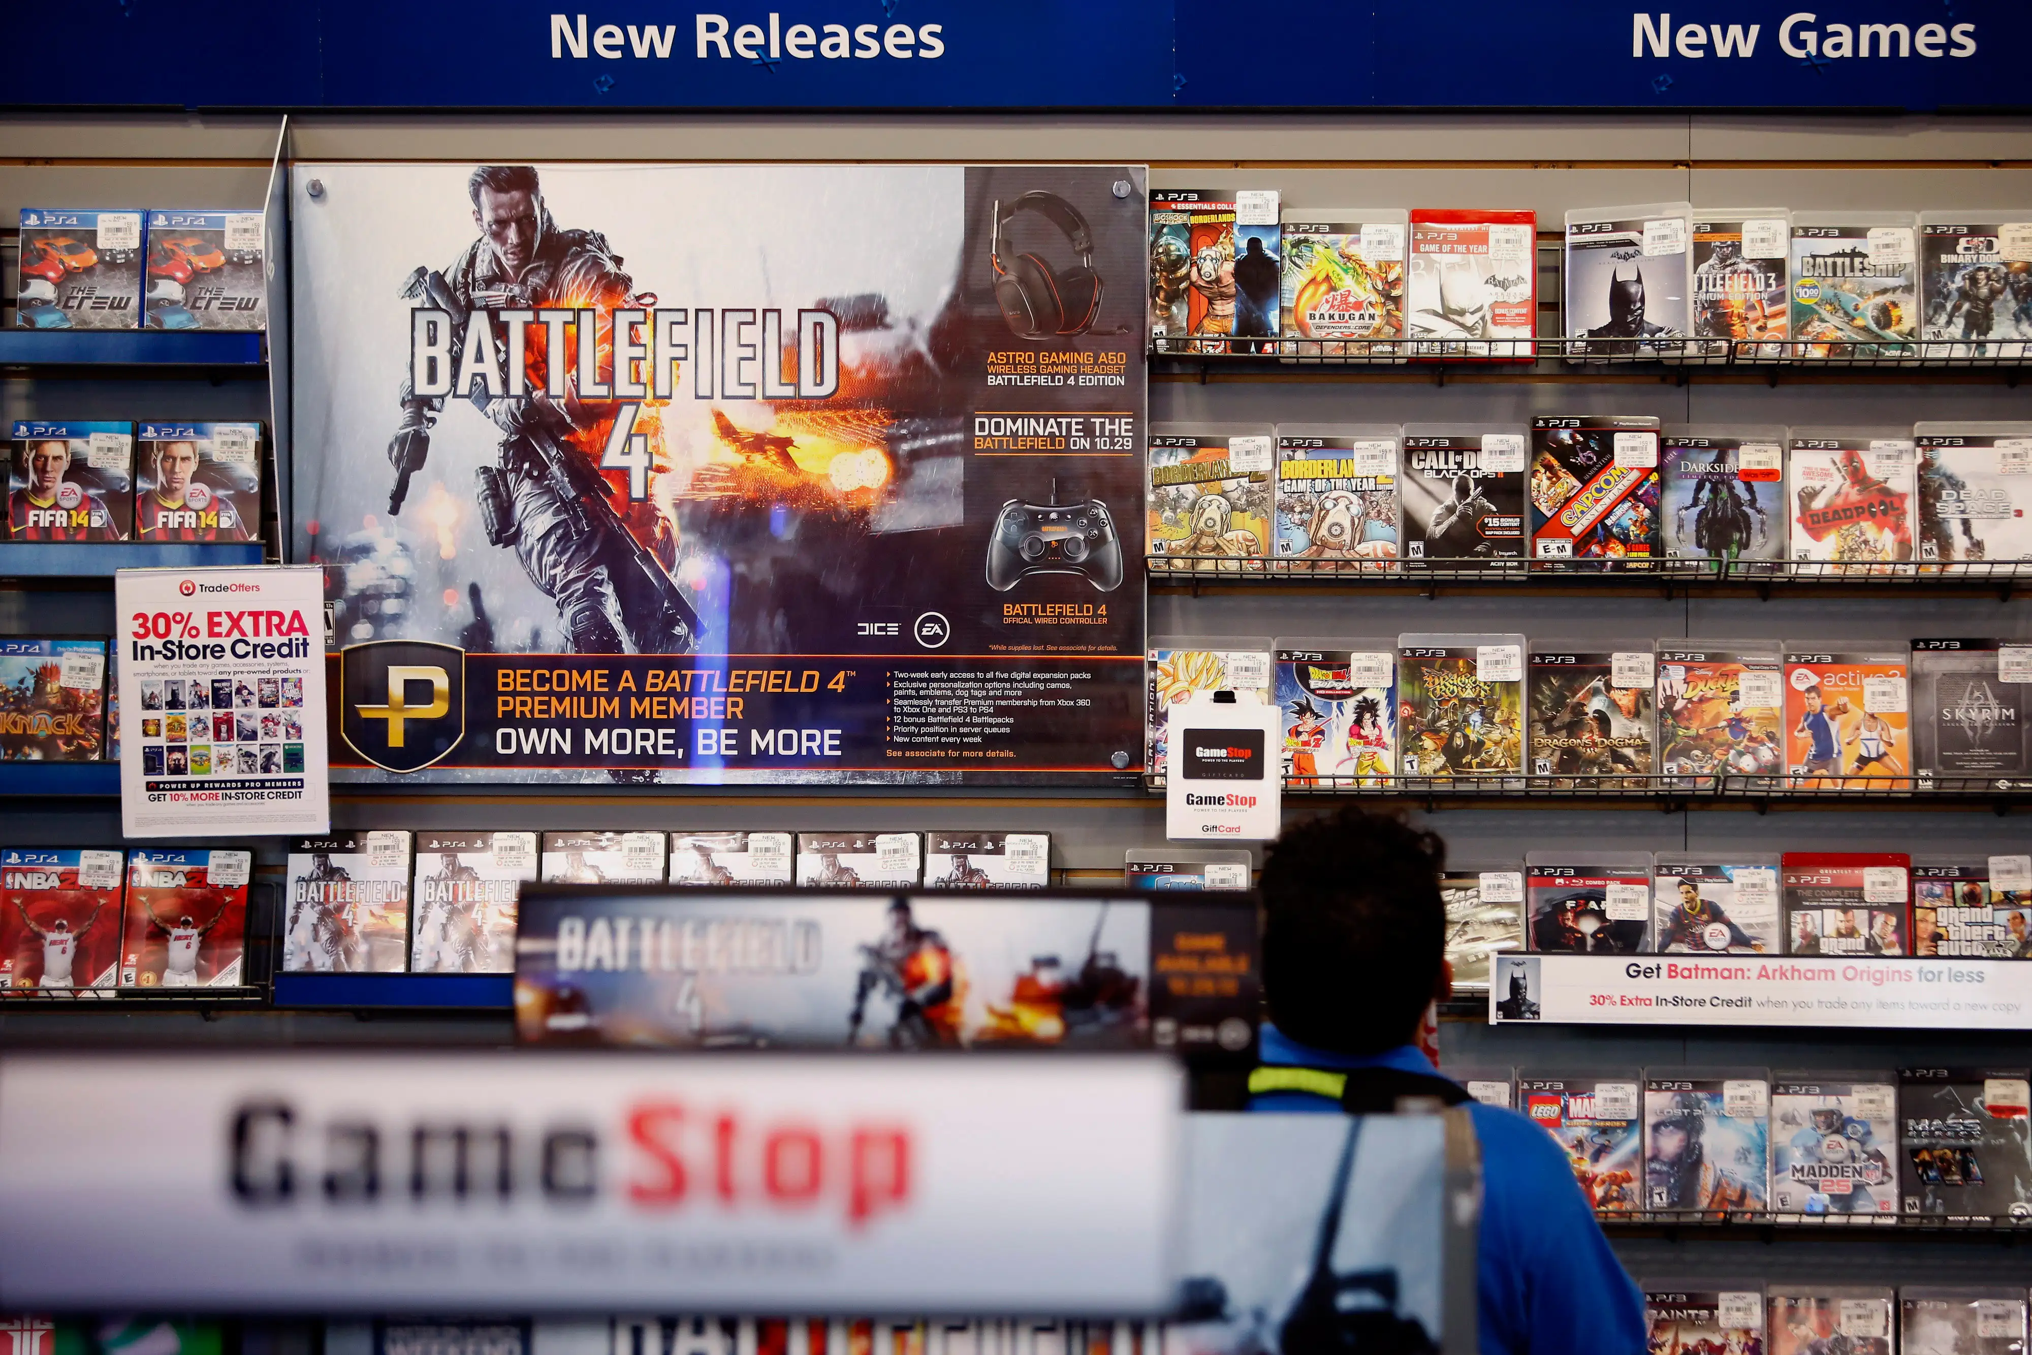
<path id="1" fill-rule="evenodd" d="M 1658 557 L 1658 427 L 1630 414 L 1530 421 L 1532 569 L 1650 569 Z"/>

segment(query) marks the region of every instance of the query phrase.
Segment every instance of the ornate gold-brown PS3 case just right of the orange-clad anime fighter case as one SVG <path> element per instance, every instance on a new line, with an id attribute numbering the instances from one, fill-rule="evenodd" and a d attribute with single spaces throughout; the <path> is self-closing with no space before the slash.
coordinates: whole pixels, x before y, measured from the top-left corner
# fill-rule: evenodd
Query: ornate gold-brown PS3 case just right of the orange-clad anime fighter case
<path id="1" fill-rule="evenodd" d="M 1398 636 L 1398 766 L 1449 780 L 1524 770 L 1524 636 Z"/>

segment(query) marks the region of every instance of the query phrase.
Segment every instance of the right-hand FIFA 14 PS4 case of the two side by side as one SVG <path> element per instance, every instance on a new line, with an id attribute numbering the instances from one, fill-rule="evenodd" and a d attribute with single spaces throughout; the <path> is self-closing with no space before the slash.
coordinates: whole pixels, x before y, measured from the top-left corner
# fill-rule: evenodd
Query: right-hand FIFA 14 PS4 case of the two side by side
<path id="1" fill-rule="evenodd" d="M 136 540 L 260 540 L 258 423 L 142 423 Z"/>

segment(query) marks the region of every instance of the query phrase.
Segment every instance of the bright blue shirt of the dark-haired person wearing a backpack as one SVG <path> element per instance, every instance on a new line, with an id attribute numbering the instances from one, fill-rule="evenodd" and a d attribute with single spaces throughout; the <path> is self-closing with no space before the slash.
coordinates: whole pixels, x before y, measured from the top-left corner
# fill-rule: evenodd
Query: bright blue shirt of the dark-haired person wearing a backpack
<path id="1" fill-rule="evenodd" d="M 1303 1069 L 1396 1069 L 1433 1075 L 1414 1044 L 1335 1054 L 1262 1028 L 1262 1060 Z M 1325 1097 L 1274 1091 L 1250 1111 L 1337 1115 Z M 1481 1235 L 1475 1249 L 1479 1355 L 1644 1355 L 1644 1296 L 1609 1249 L 1595 1211 L 1552 1136 L 1516 1111 L 1467 1103 L 1481 1140 Z"/>

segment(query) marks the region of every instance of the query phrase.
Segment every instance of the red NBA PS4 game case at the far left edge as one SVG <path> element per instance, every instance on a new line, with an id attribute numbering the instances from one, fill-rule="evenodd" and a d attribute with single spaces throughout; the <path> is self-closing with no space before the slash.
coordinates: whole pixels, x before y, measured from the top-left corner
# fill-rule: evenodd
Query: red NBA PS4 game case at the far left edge
<path id="1" fill-rule="evenodd" d="M 118 851 L 0 851 L 0 987 L 114 987 L 122 865 Z"/>

